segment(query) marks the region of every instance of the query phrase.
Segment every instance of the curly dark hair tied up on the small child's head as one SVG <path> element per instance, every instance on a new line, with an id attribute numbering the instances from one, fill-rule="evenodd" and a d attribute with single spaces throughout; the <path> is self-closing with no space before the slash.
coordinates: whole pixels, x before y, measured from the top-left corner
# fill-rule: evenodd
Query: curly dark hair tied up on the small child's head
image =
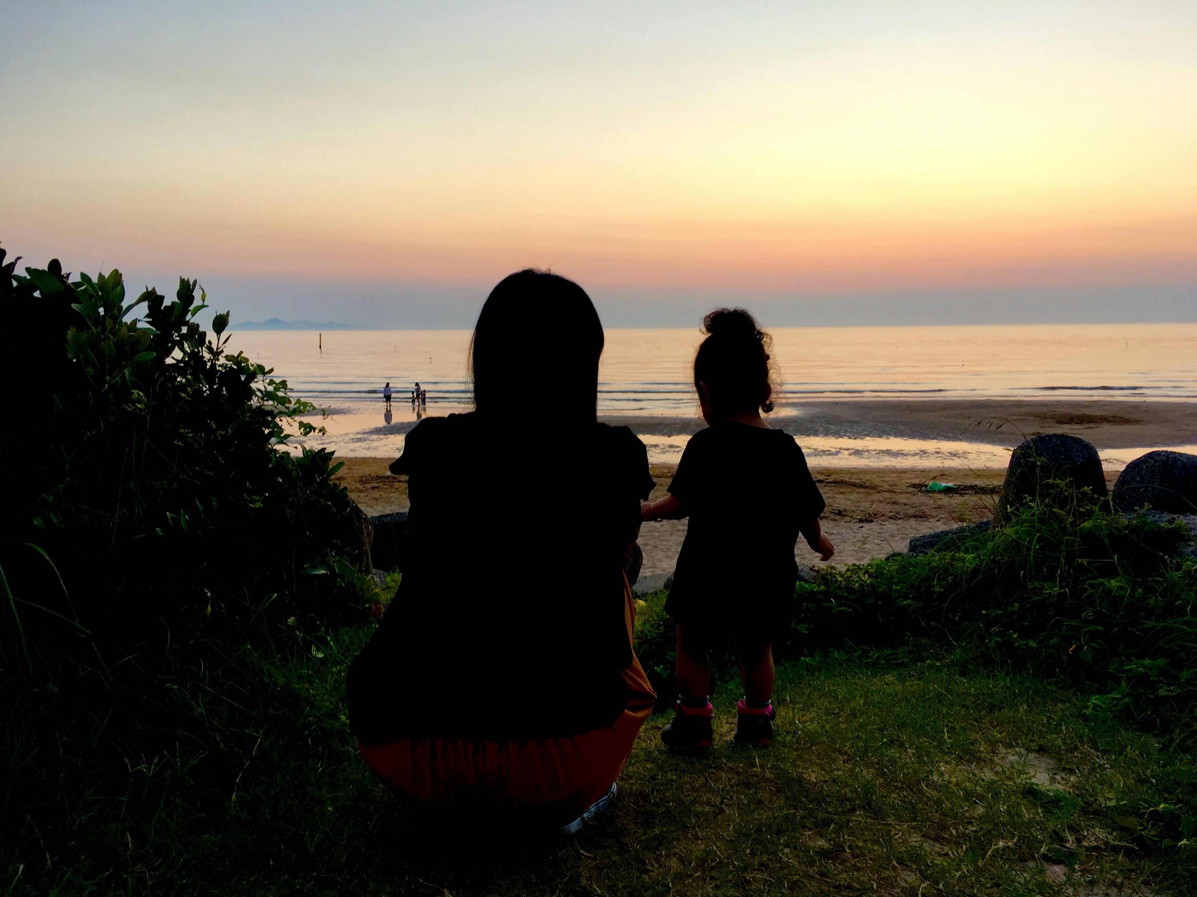
<path id="1" fill-rule="evenodd" d="M 772 338 L 743 309 L 717 309 L 703 318 L 706 338 L 694 356 L 694 388 L 703 384 L 718 417 L 773 410 Z"/>

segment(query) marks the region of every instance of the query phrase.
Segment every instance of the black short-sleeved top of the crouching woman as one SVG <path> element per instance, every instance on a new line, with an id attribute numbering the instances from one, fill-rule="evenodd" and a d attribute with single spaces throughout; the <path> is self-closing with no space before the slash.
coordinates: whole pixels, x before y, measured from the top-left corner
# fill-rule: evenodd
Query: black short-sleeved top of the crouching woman
<path id="1" fill-rule="evenodd" d="M 566 443 L 560 471 L 547 439 Z M 350 670 L 353 733 L 529 740 L 614 721 L 632 658 L 624 551 L 654 486 L 644 444 L 626 427 L 449 415 L 408 433 L 391 472 L 408 477 L 406 561 Z"/>

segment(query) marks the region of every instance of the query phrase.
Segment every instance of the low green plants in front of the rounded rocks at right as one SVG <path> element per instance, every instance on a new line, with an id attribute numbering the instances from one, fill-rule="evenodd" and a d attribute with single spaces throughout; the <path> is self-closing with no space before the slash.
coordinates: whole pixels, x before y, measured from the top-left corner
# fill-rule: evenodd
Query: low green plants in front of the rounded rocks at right
<path id="1" fill-rule="evenodd" d="M 952 550 L 800 584 L 790 646 L 922 641 L 1065 679 L 1094 694 L 1094 709 L 1187 744 L 1197 736 L 1197 563 L 1174 556 L 1183 537 L 1179 524 L 1122 517 L 1058 484 Z"/>

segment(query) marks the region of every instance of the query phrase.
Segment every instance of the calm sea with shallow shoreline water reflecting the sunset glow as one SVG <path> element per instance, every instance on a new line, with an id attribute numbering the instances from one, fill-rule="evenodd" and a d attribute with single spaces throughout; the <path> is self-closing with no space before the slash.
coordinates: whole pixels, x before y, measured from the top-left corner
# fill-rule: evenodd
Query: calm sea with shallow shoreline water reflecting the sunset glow
<path id="1" fill-rule="evenodd" d="M 1113 398 L 1197 399 L 1197 324 L 776 328 L 772 360 L 782 388 L 774 426 L 826 399 Z M 414 421 L 470 408 L 468 330 L 247 330 L 230 348 L 273 368 L 310 402 L 324 429 L 292 444 L 341 457 L 394 457 Z M 598 414 L 642 419 L 650 459 L 676 463 L 686 434 L 655 432 L 654 419 L 697 419 L 691 380 L 697 329 L 607 330 Z M 565 347 L 560 347 L 565 350 Z M 549 356 L 551 356 L 549 352 Z M 552 377 L 551 362 L 545 377 Z M 384 384 L 394 391 L 388 411 Z M 411 401 L 419 384 L 426 404 Z M 512 384 L 511 414 L 543 427 L 552 409 L 536 384 Z M 675 429 L 675 428 L 674 428 Z M 807 435 L 812 464 L 827 466 L 1004 466 L 1009 446 L 965 439 Z M 1193 441 L 1197 441 L 1195 439 Z M 1150 446 L 1144 446 L 1146 451 Z M 1185 451 L 1186 447 L 1180 447 Z M 1193 446 L 1187 450 L 1197 451 Z M 1120 466 L 1128 450 L 1102 452 Z"/>

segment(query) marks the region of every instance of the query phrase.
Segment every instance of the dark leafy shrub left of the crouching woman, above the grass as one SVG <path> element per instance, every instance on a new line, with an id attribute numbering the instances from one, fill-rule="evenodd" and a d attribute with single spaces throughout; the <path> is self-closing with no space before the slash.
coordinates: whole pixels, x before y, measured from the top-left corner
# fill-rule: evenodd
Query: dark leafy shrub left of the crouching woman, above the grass
<path id="1" fill-rule="evenodd" d="M 16 509 L 4 562 L 22 620 L 37 616 L 25 602 L 48 600 L 127 648 L 181 616 L 236 618 L 244 630 L 269 594 L 277 618 L 327 615 L 335 576 L 304 572 L 353 554 L 352 504 L 329 481 L 328 452 L 274 448 L 288 421 L 310 429 L 298 421 L 309 407 L 224 350 L 227 313 L 213 341 L 194 321 L 206 307 L 195 281 L 181 280 L 172 303 L 147 289 L 124 305 L 116 270 L 69 282 L 56 262 L 24 277 L 11 268 L 0 277 L 6 323 L 19 309 L 54 324 L 5 328 L 24 367 L 44 372 L 7 372 L 31 393 L 0 458 Z M 139 306 L 145 318 L 127 319 Z"/>

